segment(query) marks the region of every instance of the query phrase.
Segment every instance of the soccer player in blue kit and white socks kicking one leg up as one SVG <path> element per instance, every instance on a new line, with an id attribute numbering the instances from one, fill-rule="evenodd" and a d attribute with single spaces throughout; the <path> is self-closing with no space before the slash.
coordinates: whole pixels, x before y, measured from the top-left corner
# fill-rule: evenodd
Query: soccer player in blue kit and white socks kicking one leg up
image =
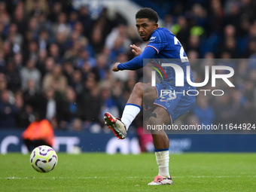
<path id="1" fill-rule="evenodd" d="M 186 53 L 178 39 L 172 32 L 166 28 L 158 27 L 158 15 L 151 8 L 142 8 L 136 13 L 136 28 L 143 41 L 149 41 L 145 50 L 141 50 L 134 44 L 133 48 L 135 58 L 125 63 L 115 63 L 113 72 L 119 70 L 136 70 L 145 66 L 143 59 L 154 59 L 154 62 L 160 59 L 175 59 L 179 67 L 183 69 L 184 77 L 187 76 L 186 66 L 189 66 Z M 141 110 L 142 102 L 145 105 L 154 107 L 154 111 L 149 117 L 151 125 L 170 125 L 182 114 L 190 111 L 194 106 L 196 96 L 188 96 L 186 94 L 173 94 L 174 91 L 181 93 L 182 90 L 194 90 L 187 80 L 184 78 L 184 86 L 175 86 L 175 70 L 172 67 L 161 67 L 161 63 L 157 63 L 159 69 L 163 69 L 166 78 L 161 79 L 160 84 L 155 87 L 151 84 L 137 83 L 133 88 L 133 92 L 126 103 L 121 119 L 114 117 L 110 113 L 104 114 L 105 124 L 108 125 L 114 135 L 119 139 L 126 138 L 126 132 L 136 115 Z M 190 72 L 190 80 L 193 81 Z M 172 90 L 172 94 L 162 95 L 161 90 Z M 186 93 L 186 92 L 184 92 Z M 173 184 L 169 175 L 169 139 L 164 130 L 151 130 L 153 137 L 155 155 L 159 168 L 158 175 L 149 185 L 157 184 Z"/>

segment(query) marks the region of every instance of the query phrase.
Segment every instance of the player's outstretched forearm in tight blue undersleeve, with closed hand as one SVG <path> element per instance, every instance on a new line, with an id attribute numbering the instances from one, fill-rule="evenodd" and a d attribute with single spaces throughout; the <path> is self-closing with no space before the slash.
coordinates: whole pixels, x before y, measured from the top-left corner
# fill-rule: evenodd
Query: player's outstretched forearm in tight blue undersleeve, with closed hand
<path id="1" fill-rule="evenodd" d="M 129 62 L 116 62 L 112 71 L 141 69 L 143 67 L 143 59 L 151 59 L 155 54 L 157 54 L 157 50 L 153 47 L 146 47 L 139 56 L 134 57 Z"/>

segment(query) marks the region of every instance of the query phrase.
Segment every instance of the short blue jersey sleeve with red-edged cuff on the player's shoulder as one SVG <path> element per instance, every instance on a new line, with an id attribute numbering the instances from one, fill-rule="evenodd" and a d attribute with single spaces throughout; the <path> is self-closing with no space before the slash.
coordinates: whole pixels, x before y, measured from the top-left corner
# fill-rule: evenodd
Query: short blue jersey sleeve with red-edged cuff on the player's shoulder
<path id="1" fill-rule="evenodd" d="M 156 30 L 152 33 L 149 39 L 147 47 L 152 47 L 157 50 L 157 54 L 163 50 L 167 45 L 166 37 L 163 32 Z"/>

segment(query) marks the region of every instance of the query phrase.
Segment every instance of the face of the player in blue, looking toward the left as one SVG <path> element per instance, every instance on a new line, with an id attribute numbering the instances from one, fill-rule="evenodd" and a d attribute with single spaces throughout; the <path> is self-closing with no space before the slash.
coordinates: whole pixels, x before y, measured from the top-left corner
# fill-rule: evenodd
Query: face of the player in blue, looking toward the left
<path id="1" fill-rule="evenodd" d="M 136 19 L 136 27 L 142 40 L 148 41 L 151 33 L 158 28 L 158 24 L 148 19 Z"/>

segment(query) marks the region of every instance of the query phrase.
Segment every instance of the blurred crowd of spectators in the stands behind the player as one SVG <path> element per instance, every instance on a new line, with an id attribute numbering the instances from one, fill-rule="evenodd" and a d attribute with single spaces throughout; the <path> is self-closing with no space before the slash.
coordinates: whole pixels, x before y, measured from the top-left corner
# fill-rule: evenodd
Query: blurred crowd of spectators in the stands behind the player
<path id="1" fill-rule="evenodd" d="M 235 70 L 236 87 L 202 87 L 225 93 L 197 96 L 184 123 L 255 122 L 256 2 L 176 2 L 161 26 L 177 36 L 188 58 L 226 59 Z M 1 1 L 0 128 L 26 128 L 37 113 L 56 130 L 101 131 L 105 111 L 120 117 L 142 79 L 142 70 L 111 72 L 114 62 L 133 58 L 130 44 L 145 47 L 135 27 L 121 13 L 109 17 L 108 8 L 95 18 L 72 1 Z M 191 62 L 197 82 L 205 78 L 204 66 Z"/>

